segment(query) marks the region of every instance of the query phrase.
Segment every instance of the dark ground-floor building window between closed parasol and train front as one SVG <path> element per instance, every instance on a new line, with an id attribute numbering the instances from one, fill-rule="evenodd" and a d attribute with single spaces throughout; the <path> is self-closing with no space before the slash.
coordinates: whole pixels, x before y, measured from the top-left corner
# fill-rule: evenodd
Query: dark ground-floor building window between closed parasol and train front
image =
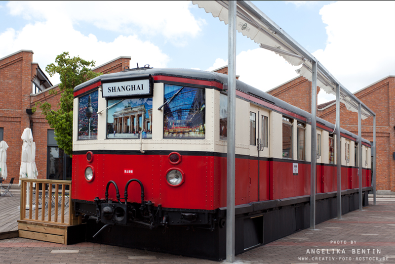
<path id="1" fill-rule="evenodd" d="M 72 158 L 58 147 L 53 130 L 47 132 L 47 179 L 71 180 Z"/>

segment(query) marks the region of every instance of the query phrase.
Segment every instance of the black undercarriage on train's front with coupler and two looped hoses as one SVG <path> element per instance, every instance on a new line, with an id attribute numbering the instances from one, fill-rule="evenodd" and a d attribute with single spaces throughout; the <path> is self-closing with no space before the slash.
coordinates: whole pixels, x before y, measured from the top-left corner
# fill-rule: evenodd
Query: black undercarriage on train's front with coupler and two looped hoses
<path id="1" fill-rule="evenodd" d="M 141 203 L 126 202 L 129 183 L 136 181 L 141 187 Z M 108 198 L 109 186 L 113 184 L 117 192 L 117 200 L 112 201 Z M 123 200 L 123 201 L 122 201 Z M 94 201 L 81 201 L 73 199 L 75 203 L 76 215 L 83 216 L 85 219 L 96 220 L 96 223 L 105 224 L 93 237 L 98 235 L 106 227 L 114 225 L 125 225 L 132 227 L 142 227 L 156 229 L 159 226 L 167 228 L 169 225 L 198 226 L 214 230 L 217 223 L 224 226 L 225 216 L 221 217 L 219 210 L 190 210 L 162 208 L 159 204 L 154 205 L 151 201 L 144 200 L 144 187 L 138 179 L 131 179 L 126 183 L 124 197 L 120 198 L 117 184 L 110 180 L 106 186 L 105 199 L 96 197 Z"/>

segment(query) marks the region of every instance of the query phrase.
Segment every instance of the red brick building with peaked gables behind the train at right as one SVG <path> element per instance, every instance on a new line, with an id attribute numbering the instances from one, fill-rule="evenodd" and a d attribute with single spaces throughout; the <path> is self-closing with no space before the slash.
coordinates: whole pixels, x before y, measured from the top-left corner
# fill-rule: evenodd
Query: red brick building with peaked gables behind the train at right
<path id="1" fill-rule="evenodd" d="M 311 82 L 297 77 L 267 91 L 269 94 L 311 113 Z M 395 193 L 395 76 L 388 76 L 354 95 L 376 113 L 377 193 Z M 336 102 L 317 106 L 317 116 L 335 124 Z M 373 118 L 362 120 L 362 137 L 373 140 Z M 358 113 L 340 104 L 340 126 L 358 134 Z M 393 156 L 394 155 L 394 156 Z"/>

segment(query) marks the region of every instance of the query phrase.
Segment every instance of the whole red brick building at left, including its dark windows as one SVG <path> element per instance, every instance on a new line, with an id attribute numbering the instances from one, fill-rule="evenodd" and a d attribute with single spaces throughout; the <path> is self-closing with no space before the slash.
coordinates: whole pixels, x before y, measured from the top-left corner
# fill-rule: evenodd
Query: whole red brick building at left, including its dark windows
<path id="1" fill-rule="evenodd" d="M 118 57 L 93 71 L 115 73 L 129 67 L 130 57 Z M 54 139 L 54 132 L 47 124 L 40 109 L 32 113 L 36 102 L 47 101 L 52 109 L 60 100 L 60 93 L 49 94 L 49 90 L 59 90 L 53 86 L 38 63 L 33 62 L 32 50 L 19 50 L 0 58 L 0 141 L 8 144 L 7 180 L 19 179 L 21 165 L 22 132 L 31 128 L 36 142 L 36 166 L 39 178 L 70 179 L 71 158 L 63 153 Z"/>

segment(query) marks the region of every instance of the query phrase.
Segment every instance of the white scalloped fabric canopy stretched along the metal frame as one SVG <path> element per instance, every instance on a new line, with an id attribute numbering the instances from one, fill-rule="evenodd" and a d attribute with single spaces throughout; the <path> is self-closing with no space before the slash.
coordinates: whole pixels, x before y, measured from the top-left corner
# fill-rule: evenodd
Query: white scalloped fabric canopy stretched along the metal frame
<path id="1" fill-rule="evenodd" d="M 211 13 L 214 17 L 218 17 L 220 21 L 224 21 L 225 24 L 228 24 L 228 1 L 197 1 L 193 0 L 193 4 L 197 4 L 198 7 L 203 8 L 207 13 Z M 248 4 L 247 4 L 248 5 Z M 253 4 L 249 4 L 253 5 Z M 243 5 L 246 7 L 246 5 Z M 276 54 L 283 57 L 288 63 L 293 66 L 302 65 L 302 67 L 296 70 L 301 76 L 305 77 L 307 80 L 312 81 L 312 63 L 308 58 L 304 58 L 300 52 L 298 52 L 294 46 L 288 44 L 284 39 L 276 34 L 273 30 L 271 30 L 268 26 L 266 26 L 262 21 L 266 19 L 266 23 L 271 25 L 275 24 L 273 21 L 268 19 L 264 14 L 265 18 L 256 13 L 249 12 L 240 4 L 237 4 L 237 22 L 236 29 L 238 32 L 243 34 L 244 36 L 250 38 L 256 43 L 261 44 L 261 47 L 272 50 Z M 261 21 L 262 20 L 262 21 Z M 278 26 L 277 30 L 279 29 Z M 288 36 L 288 39 L 291 39 Z M 296 43 L 293 39 L 291 39 L 292 43 Z M 300 46 L 299 46 L 300 48 Z M 291 55 L 290 55 L 291 54 Z M 307 53 L 309 54 L 309 53 Z M 309 55 L 304 55 L 309 56 Z M 313 57 L 312 55 L 310 55 Z M 314 58 L 314 57 L 313 57 Z M 325 92 L 329 94 L 336 95 L 335 86 L 331 83 L 331 81 L 325 77 L 323 73 L 318 70 L 317 73 L 317 86 L 322 88 Z M 355 99 L 347 96 L 347 94 L 340 94 L 341 101 L 346 105 L 347 109 L 353 112 L 358 112 L 357 102 Z M 356 106 L 355 106 L 356 105 Z M 362 119 L 366 119 L 371 116 L 371 114 L 365 109 L 361 108 L 361 117 Z"/>

